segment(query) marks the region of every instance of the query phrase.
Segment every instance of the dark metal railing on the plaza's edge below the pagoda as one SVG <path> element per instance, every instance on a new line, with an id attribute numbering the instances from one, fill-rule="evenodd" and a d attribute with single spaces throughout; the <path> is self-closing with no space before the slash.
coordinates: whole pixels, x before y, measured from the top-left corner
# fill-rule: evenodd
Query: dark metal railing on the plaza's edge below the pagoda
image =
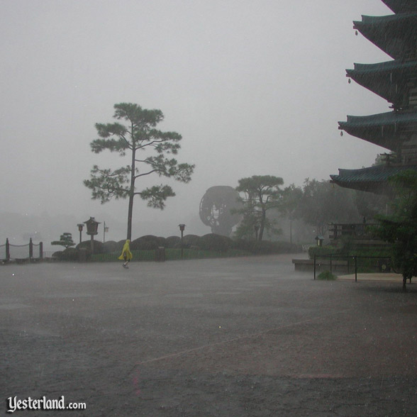
<path id="1" fill-rule="evenodd" d="M 323 270 L 355 273 L 355 282 L 358 272 L 396 272 L 389 256 L 314 255 L 314 279 Z"/>

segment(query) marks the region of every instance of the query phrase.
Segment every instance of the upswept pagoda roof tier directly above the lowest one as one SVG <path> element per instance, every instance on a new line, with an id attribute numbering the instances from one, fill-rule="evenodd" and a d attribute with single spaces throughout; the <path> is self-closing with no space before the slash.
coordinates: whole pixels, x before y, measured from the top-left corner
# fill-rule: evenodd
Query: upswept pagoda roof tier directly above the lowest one
<path id="1" fill-rule="evenodd" d="M 371 116 L 347 116 L 347 121 L 338 123 L 339 128 L 350 135 L 395 152 L 400 140 L 407 140 L 416 131 L 417 112 L 389 111 Z"/>

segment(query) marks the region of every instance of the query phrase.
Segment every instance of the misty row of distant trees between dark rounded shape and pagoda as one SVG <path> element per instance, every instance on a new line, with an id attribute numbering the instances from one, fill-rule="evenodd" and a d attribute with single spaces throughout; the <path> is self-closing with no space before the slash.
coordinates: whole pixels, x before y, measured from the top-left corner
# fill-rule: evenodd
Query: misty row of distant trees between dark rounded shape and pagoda
<path id="1" fill-rule="evenodd" d="M 307 178 L 301 187 L 294 184 L 281 188 L 281 177 L 253 176 L 239 180 L 243 220 L 235 231 L 236 238 L 262 241 L 279 235 L 282 218 L 301 220 L 318 235 L 325 235 L 330 223 L 372 221 L 387 208 L 387 196 L 345 189 L 330 180 Z"/>

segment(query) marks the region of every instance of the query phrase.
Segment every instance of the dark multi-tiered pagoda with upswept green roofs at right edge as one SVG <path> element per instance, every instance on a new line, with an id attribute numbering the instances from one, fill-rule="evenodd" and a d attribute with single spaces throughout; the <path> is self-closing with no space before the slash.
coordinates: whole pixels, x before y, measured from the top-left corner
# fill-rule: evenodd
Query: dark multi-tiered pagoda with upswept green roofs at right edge
<path id="1" fill-rule="evenodd" d="M 371 116 L 347 116 L 339 129 L 367 140 L 389 153 L 384 164 L 339 169 L 332 182 L 350 189 L 386 194 L 388 179 L 405 169 L 417 170 L 417 0 L 382 0 L 394 14 L 362 16 L 353 28 L 392 60 L 354 64 L 346 76 L 381 96 L 391 111 Z"/>

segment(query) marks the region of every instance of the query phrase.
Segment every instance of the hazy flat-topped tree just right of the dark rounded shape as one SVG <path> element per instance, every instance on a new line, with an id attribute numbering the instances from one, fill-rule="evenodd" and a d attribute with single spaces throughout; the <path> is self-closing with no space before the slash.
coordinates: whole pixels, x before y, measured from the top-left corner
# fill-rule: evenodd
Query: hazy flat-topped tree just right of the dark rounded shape
<path id="1" fill-rule="evenodd" d="M 243 221 L 236 230 L 238 237 L 253 235 L 261 241 L 265 230 L 272 233 L 279 233 L 279 229 L 274 228 L 274 222 L 267 218 L 267 211 L 278 208 L 282 196 L 280 185 L 284 181 L 280 177 L 272 175 L 253 175 L 252 177 L 239 179 L 236 191 L 244 194 L 240 197 L 243 208 L 238 213 L 243 213 Z"/>

